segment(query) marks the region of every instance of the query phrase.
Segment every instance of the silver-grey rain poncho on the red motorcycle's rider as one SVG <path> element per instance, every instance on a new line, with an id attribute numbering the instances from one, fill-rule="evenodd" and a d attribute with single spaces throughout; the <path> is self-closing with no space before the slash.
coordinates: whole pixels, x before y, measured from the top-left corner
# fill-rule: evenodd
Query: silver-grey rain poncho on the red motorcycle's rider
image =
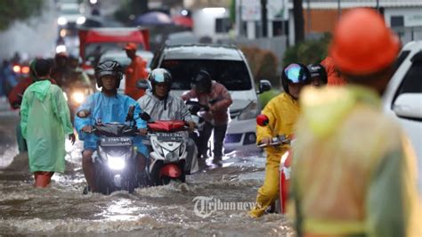
<path id="1" fill-rule="evenodd" d="M 168 94 L 166 100 L 158 100 L 150 91 L 138 100 L 142 110 L 150 115 L 151 120 L 191 121 L 191 113 L 184 102 Z"/>

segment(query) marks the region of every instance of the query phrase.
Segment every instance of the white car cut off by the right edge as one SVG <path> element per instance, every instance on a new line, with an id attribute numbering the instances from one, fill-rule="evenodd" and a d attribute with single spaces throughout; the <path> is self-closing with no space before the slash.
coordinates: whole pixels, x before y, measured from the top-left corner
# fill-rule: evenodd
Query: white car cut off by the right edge
<path id="1" fill-rule="evenodd" d="M 418 190 L 422 194 L 422 41 L 402 47 L 385 90 L 383 109 L 401 124 L 416 151 Z"/>

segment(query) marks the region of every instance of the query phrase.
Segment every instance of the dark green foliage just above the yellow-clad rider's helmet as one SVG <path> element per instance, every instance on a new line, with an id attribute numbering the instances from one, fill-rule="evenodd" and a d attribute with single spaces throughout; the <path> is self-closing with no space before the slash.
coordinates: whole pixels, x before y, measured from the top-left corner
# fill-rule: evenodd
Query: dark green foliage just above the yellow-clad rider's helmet
<path id="1" fill-rule="evenodd" d="M 306 40 L 300 44 L 289 47 L 284 54 L 283 65 L 300 62 L 304 65 L 321 62 L 326 56 L 331 35 L 324 34 L 318 40 Z"/>

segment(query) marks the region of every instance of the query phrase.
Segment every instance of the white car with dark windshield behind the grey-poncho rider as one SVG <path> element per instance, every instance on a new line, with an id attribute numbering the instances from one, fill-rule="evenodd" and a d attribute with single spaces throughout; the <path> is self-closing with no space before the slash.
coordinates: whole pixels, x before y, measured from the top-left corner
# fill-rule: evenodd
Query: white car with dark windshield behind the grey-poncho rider
<path id="1" fill-rule="evenodd" d="M 229 90 L 233 100 L 224 152 L 257 149 L 256 116 L 261 108 L 248 61 L 239 48 L 234 45 L 165 45 L 151 62 L 151 69 L 156 68 L 171 72 L 175 95 L 191 89 L 195 71 L 207 69 L 215 81 Z M 269 89 L 261 84 L 260 87 Z"/>

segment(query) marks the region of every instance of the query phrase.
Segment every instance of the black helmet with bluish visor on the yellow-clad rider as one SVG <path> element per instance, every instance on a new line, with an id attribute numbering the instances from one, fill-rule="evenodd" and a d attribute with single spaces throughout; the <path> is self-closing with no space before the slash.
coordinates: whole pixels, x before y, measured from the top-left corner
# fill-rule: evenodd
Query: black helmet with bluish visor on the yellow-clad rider
<path id="1" fill-rule="evenodd" d="M 281 72 L 281 85 L 284 91 L 288 93 L 288 84 L 293 83 L 304 83 L 309 84 L 311 82 L 311 73 L 301 63 L 288 64 L 286 68 Z"/>

